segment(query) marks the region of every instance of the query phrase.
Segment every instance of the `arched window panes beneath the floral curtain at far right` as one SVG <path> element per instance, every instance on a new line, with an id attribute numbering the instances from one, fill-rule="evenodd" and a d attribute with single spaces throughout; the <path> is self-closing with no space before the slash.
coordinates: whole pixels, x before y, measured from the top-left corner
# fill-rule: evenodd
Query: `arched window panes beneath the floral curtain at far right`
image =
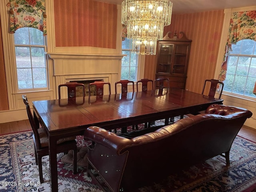
<path id="1" fill-rule="evenodd" d="M 244 39 L 232 45 L 228 56 L 224 91 L 239 97 L 254 97 L 256 81 L 256 41 Z"/>

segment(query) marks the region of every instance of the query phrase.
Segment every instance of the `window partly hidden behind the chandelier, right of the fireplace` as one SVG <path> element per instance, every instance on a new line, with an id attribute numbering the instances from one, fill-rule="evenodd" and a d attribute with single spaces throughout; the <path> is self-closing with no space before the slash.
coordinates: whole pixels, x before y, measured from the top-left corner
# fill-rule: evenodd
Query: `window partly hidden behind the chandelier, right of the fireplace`
<path id="1" fill-rule="evenodd" d="M 130 49 L 131 40 L 125 38 L 122 41 L 122 54 L 126 54 L 122 58 L 121 79 L 137 81 L 138 74 L 138 55 Z"/>

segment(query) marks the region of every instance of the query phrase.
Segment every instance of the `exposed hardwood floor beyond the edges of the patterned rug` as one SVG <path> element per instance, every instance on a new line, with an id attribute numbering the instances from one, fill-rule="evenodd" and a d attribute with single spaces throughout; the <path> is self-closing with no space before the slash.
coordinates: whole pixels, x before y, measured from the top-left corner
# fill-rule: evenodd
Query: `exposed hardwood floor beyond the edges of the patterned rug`
<path id="1" fill-rule="evenodd" d="M 0 135 L 26 130 L 32 130 L 28 119 L 22 121 L 0 123 Z M 238 135 L 253 142 L 256 142 L 256 129 L 254 128 L 243 126 Z"/>

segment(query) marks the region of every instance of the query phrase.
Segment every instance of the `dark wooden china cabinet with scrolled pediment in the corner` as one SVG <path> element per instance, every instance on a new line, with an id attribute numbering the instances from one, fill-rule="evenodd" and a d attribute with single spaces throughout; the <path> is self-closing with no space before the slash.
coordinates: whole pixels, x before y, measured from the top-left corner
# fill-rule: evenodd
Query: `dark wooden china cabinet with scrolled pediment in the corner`
<path id="1" fill-rule="evenodd" d="M 180 32 L 181 38 L 177 38 L 176 32 L 173 38 L 169 38 L 170 33 L 158 41 L 156 78 L 169 78 L 170 87 L 185 89 L 192 40 L 187 39 L 183 32 Z"/>

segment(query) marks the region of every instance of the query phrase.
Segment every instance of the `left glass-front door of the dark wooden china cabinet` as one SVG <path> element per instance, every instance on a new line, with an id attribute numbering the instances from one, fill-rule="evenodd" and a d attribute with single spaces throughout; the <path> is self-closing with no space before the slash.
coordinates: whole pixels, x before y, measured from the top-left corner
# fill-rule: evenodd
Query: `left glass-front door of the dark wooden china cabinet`
<path id="1" fill-rule="evenodd" d="M 159 63 L 158 72 L 170 73 L 172 68 L 172 51 L 173 44 L 160 44 L 159 45 Z"/>

